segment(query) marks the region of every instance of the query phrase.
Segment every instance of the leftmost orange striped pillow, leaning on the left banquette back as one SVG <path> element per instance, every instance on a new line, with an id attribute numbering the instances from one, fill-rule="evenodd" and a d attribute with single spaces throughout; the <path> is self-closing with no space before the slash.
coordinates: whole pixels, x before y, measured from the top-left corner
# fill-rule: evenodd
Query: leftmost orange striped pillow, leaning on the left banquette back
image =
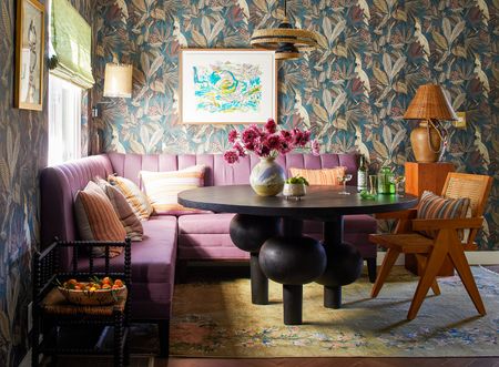
<path id="1" fill-rule="evenodd" d="M 113 205 L 94 182 L 89 182 L 77 193 L 74 212 L 80 237 L 83 241 L 124 241 L 126 231 L 120 222 Z M 111 247 L 111 257 L 120 255 L 123 247 Z M 104 247 L 93 247 L 94 256 L 103 256 Z"/>

